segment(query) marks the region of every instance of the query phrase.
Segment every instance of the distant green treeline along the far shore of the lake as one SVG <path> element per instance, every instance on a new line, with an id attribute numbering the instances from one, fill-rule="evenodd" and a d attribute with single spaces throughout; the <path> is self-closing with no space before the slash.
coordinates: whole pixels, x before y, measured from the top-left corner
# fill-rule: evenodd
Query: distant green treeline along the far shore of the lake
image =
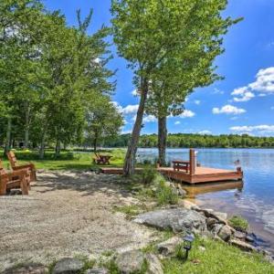
<path id="1" fill-rule="evenodd" d="M 121 134 L 116 139 L 108 140 L 104 146 L 127 146 L 131 134 Z M 139 147 L 157 147 L 157 135 L 142 135 Z M 219 148 L 274 148 L 274 137 L 255 137 L 248 134 L 201 135 L 201 134 L 168 134 L 167 147 L 219 147 Z"/>

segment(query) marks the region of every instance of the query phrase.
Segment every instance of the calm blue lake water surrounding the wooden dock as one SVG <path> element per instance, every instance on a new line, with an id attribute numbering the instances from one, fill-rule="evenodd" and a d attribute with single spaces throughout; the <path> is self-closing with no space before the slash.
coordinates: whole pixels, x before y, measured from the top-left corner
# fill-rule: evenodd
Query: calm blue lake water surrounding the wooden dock
<path id="1" fill-rule="evenodd" d="M 244 171 L 241 183 L 185 185 L 195 203 L 229 216 L 248 219 L 250 230 L 267 242 L 261 246 L 274 251 L 274 149 L 197 149 L 197 161 L 208 167 L 236 169 L 239 160 Z M 154 160 L 157 149 L 139 149 L 138 160 Z M 168 149 L 166 160 L 188 159 L 188 149 Z"/>

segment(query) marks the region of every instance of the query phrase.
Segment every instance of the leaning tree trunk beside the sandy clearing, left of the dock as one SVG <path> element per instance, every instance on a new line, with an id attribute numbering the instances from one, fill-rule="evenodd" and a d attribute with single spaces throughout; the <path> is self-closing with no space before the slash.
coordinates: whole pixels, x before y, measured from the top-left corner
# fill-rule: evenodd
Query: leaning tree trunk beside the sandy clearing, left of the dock
<path id="1" fill-rule="evenodd" d="M 123 174 L 125 176 L 130 176 L 134 173 L 135 154 L 137 151 L 140 132 L 142 130 L 142 116 L 144 112 L 145 101 L 147 99 L 147 93 L 148 93 L 148 81 L 146 79 L 143 79 L 141 99 L 140 99 L 139 108 L 137 111 L 136 121 L 134 123 L 132 138 L 130 143 L 128 144 L 128 150 L 127 150 L 125 160 L 124 160 L 124 165 L 123 165 Z"/>

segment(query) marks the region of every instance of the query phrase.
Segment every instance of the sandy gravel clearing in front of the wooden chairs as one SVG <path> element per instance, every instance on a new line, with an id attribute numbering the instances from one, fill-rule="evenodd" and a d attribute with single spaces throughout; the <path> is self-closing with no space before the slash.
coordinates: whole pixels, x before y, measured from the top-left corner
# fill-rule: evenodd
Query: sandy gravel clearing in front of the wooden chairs
<path id="1" fill-rule="evenodd" d="M 115 175 L 45 173 L 30 195 L 0 197 L 0 271 L 145 246 L 153 231 L 113 213 L 114 205 L 134 203 L 120 183 Z"/>

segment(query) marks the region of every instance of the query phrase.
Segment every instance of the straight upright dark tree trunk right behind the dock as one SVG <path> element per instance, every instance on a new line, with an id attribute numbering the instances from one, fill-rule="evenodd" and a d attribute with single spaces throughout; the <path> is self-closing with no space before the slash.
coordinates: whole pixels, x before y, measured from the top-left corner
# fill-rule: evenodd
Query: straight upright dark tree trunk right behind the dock
<path id="1" fill-rule="evenodd" d="M 158 153 L 161 166 L 165 165 L 166 135 L 166 117 L 160 117 L 158 118 Z"/>

